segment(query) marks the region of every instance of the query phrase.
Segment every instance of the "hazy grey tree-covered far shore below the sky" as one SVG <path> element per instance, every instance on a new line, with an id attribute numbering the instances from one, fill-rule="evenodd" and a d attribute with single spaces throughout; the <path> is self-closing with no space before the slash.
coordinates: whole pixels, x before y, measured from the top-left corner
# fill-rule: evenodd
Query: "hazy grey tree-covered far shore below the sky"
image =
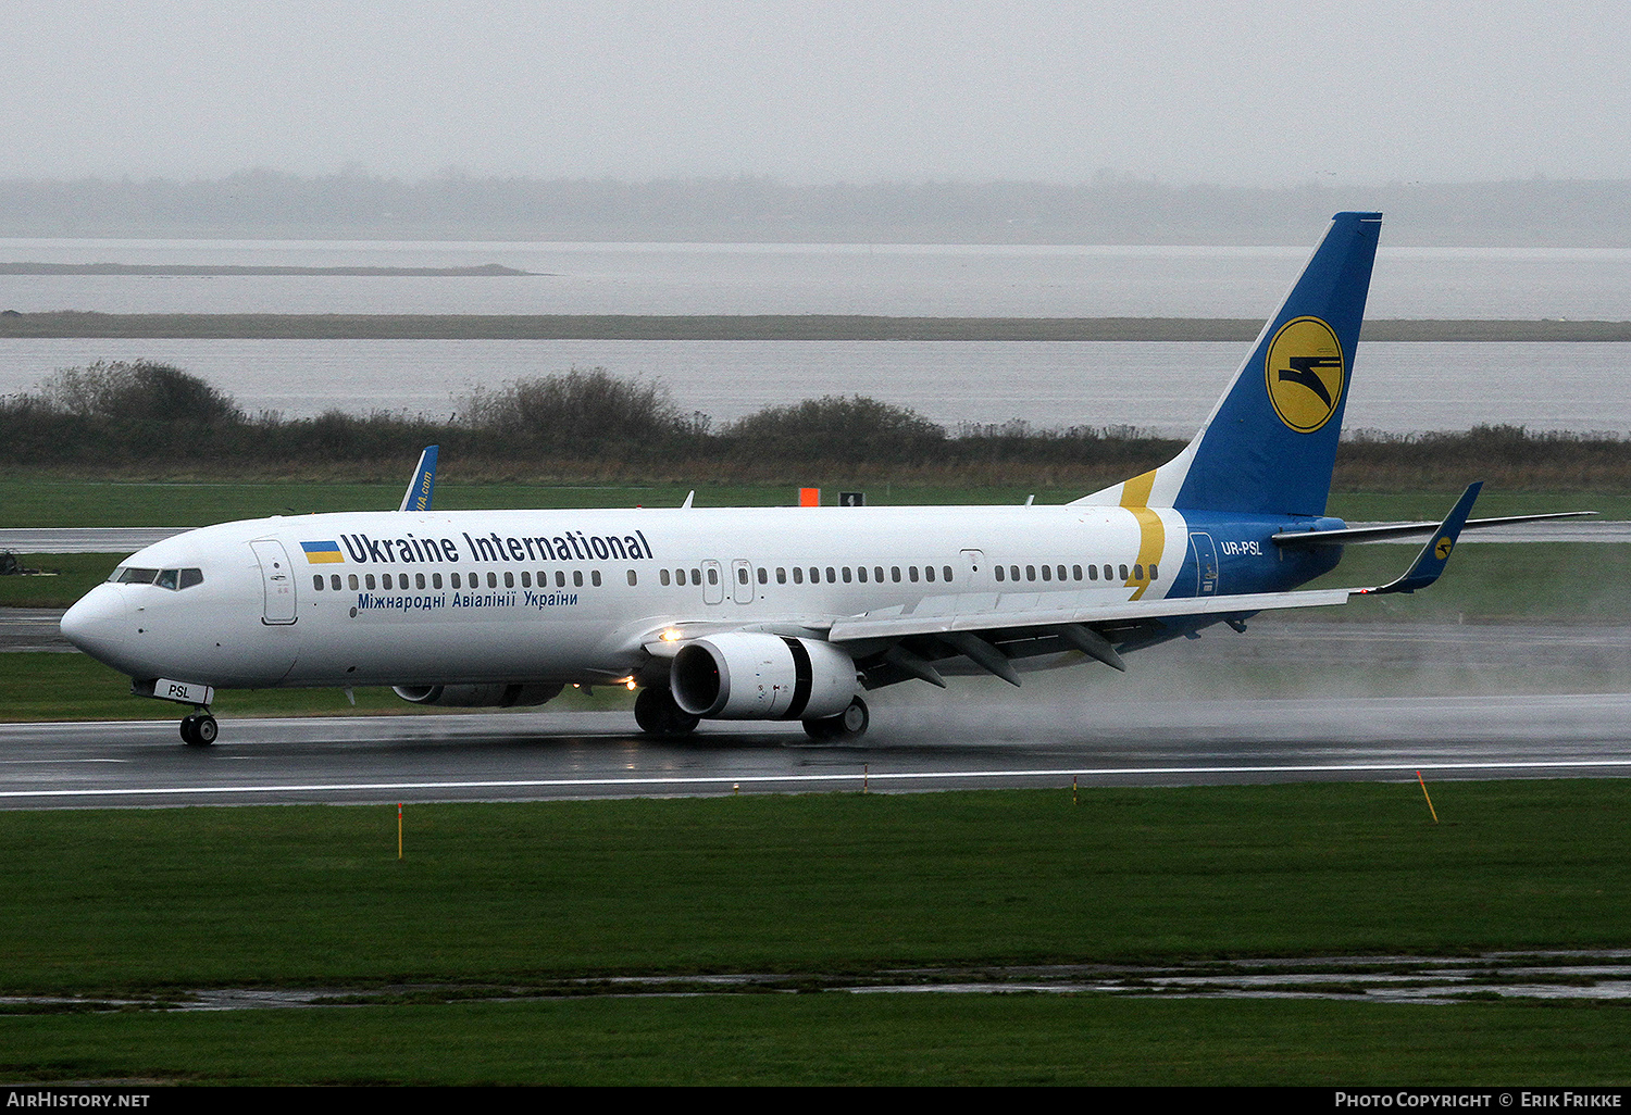
<path id="1" fill-rule="evenodd" d="M 1308 243 L 1344 209 L 1391 245 L 1631 248 L 1631 179 L 1461 186 L 1047 183 L 793 186 L 243 171 L 212 179 L 0 178 L 0 236 L 664 243 Z M 21 258 L 18 258 L 21 261 Z"/>

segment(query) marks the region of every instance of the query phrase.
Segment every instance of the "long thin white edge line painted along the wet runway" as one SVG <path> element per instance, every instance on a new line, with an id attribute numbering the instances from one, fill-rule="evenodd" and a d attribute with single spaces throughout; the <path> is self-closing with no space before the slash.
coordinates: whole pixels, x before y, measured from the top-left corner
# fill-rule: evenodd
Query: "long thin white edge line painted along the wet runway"
<path id="1" fill-rule="evenodd" d="M 1631 758 L 1623 760 L 1536 760 L 1533 763 L 1344 763 L 1336 766 L 1117 766 L 1117 768 L 1060 768 L 1024 771 L 925 771 L 920 774 L 696 774 L 649 778 L 538 778 L 468 782 L 308 782 L 287 786 L 134 786 L 126 789 L 41 789 L 0 791 L 7 797 L 117 797 L 121 794 L 334 794 L 341 791 L 426 791 L 426 789 L 527 789 L 568 786 L 724 786 L 770 782 L 905 782 L 967 778 L 1119 778 L 1129 774 L 1355 774 L 1416 771 L 1541 771 L 1541 769 L 1597 769 L 1610 766 L 1631 768 Z"/>

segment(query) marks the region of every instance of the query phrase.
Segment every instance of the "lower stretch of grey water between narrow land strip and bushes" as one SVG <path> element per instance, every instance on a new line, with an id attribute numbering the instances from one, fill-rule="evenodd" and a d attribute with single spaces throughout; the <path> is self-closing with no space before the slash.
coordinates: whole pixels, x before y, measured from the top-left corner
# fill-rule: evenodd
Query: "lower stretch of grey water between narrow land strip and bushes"
<path id="1" fill-rule="evenodd" d="M 956 427 L 1134 425 L 1189 435 L 1249 346 L 1070 341 L 117 341 L 3 339 L 0 394 L 54 368 L 148 359 L 183 367 L 246 411 L 329 409 L 447 417 L 478 386 L 605 367 L 661 380 L 674 401 L 726 422 L 763 406 L 868 394 Z M 1346 425 L 1631 432 L 1631 344 L 1372 342 L 1360 347 Z"/>

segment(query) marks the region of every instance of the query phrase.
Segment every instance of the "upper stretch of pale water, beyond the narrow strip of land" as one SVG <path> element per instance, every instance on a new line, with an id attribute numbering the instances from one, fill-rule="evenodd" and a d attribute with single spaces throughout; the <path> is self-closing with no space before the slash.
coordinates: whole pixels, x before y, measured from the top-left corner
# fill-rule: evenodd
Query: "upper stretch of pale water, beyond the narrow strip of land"
<path id="1" fill-rule="evenodd" d="M 1254 318 L 1285 248 L 0 240 L 0 262 L 476 267 L 524 277 L 0 275 L 0 308 L 103 313 L 860 313 Z M 1373 318 L 1631 320 L 1631 249 L 1395 248 Z"/>

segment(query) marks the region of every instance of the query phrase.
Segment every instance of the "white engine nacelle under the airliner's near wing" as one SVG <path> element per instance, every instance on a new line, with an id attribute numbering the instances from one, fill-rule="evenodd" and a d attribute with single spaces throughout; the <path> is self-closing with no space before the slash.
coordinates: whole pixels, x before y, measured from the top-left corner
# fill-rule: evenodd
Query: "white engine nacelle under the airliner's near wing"
<path id="1" fill-rule="evenodd" d="M 855 699 L 855 660 L 830 642 L 734 631 L 680 647 L 669 686 L 674 703 L 690 716 L 827 717 Z"/>

